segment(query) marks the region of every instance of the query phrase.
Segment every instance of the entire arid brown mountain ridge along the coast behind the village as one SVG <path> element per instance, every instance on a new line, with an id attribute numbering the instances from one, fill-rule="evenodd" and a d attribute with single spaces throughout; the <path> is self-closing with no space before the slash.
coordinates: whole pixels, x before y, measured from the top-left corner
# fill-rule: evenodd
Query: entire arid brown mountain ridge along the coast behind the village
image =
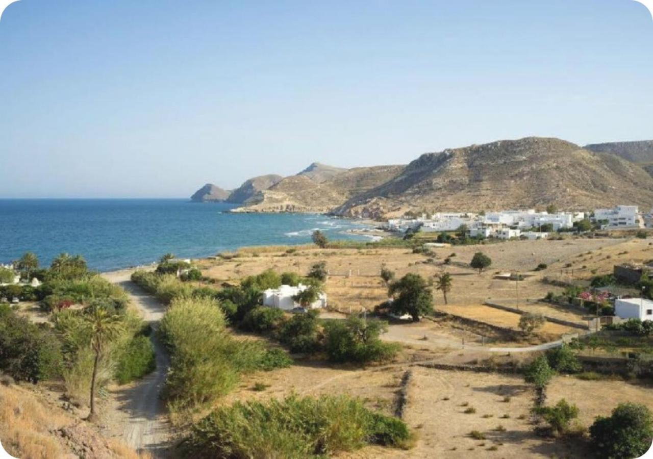
<path id="1" fill-rule="evenodd" d="M 653 162 L 653 142 L 648 143 Z M 597 145 L 582 148 L 558 138 L 528 137 L 424 153 L 406 166 L 344 169 L 313 163 L 295 176 L 247 180 L 226 198 L 197 199 L 198 193 L 224 196 L 200 190 L 193 200 L 242 204 L 233 212 L 324 212 L 375 219 L 407 210 L 653 206 L 653 178 L 642 167 L 648 165 L 643 161 L 647 142 Z M 210 186 L 215 187 L 202 189 Z"/>

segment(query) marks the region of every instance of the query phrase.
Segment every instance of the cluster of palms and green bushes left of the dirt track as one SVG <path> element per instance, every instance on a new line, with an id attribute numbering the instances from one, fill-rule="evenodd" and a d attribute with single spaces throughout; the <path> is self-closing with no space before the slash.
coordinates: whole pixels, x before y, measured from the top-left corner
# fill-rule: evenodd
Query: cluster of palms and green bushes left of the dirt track
<path id="1" fill-rule="evenodd" d="M 21 273 L 39 272 L 44 283 L 33 293 L 52 310 L 54 326 L 32 324 L 0 305 L 0 370 L 32 383 L 63 379 L 69 396 L 88 396 L 93 420 L 100 387 L 112 379 L 127 383 L 153 370 L 146 328 L 127 308 L 125 292 L 90 272 L 79 255 L 61 254 L 50 268 L 39 268 L 38 259 L 27 253 L 16 266 Z M 71 304 L 80 308 L 61 307 Z"/>

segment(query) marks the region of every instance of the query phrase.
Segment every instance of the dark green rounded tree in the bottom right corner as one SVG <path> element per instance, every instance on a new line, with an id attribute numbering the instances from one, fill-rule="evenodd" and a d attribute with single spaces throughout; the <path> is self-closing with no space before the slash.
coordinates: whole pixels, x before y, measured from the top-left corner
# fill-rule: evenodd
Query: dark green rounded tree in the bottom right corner
<path id="1" fill-rule="evenodd" d="M 631 459 L 643 456 L 653 441 L 653 418 L 641 404 L 624 403 L 610 417 L 597 417 L 590 437 L 600 458 Z"/>

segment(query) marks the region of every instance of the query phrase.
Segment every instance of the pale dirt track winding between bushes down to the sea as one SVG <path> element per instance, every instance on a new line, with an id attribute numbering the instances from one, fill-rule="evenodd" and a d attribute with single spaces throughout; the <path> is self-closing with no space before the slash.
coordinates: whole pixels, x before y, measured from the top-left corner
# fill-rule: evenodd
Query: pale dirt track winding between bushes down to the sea
<path id="1" fill-rule="evenodd" d="M 142 312 L 144 321 L 156 330 L 165 313 L 165 306 L 129 280 L 131 271 L 106 273 L 103 276 L 127 291 L 132 304 Z M 151 334 L 150 339 L 156 352 L 157 368 L 135 384 L 119 388 L 115 395 L 121 414 L 119 422 L 123 424 L 119 428 L 125 443 L 136 451 L 148 451 L 153 457 L 161 458 L 169 456 L 170 447 L 167 409 L 159 398 L 169 359 L 155 333 Z"/>

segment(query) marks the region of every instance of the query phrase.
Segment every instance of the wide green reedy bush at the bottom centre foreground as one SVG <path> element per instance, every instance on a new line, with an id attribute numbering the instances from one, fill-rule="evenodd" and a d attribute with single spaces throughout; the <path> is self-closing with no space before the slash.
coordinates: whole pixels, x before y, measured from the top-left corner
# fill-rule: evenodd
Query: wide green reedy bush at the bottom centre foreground
<path id="1" fill-rule="evenodd" d="M 404 422 L 374 413 L 349 396 L 321 396 L 219 407 L 191 428 L 187 455 L 197 458 L 308 458 L 370 443 L 406 447 Z"/>

